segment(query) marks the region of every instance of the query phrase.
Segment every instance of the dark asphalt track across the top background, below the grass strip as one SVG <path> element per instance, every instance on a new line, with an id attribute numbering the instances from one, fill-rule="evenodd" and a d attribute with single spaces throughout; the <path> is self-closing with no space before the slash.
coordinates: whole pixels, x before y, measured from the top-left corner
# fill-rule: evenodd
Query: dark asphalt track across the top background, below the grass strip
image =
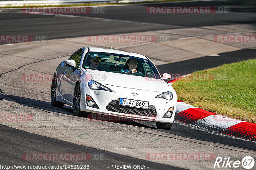
<path id="1" fill-rule="evenodd" d="M 220 6 L 232 8 L 228 14 L 151 14 L 147 6 Z M 255 1 L 203 1 L 147 5 L 104 7 L 104 14 L 28 15 L 20 10 L 1 10 L 2 35 L 46 36 L 47 39 L 82 37 L 90 35 L 143 32 L 161 29 L 189 28 L 212 25 L 255 23 Z M 71 15 L 71 14 L 70 14 Z M 140 16 L 140 17 L 138 17 Z M 58 23 L 58 24 L 56 24 Z"/>

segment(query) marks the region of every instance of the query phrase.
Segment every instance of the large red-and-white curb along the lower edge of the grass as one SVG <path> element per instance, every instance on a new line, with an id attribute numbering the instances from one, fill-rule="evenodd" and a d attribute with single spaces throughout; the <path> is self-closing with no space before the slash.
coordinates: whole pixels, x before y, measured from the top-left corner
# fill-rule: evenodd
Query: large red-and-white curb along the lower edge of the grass
<path id="1" fill-rule="evenodd" d="M 256 141 L 256 124 L 221 116 L 181 101 L 177 101 L 175 119 L 209 131 Z"/>

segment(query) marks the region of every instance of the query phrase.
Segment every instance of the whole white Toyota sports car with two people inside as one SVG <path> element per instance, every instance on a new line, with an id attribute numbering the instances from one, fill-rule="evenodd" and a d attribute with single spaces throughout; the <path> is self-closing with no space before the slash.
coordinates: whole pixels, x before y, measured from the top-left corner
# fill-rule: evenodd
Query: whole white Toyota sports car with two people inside
<path id="1" fill-rule="evenodd" d="M 85 112 L 155 121 L 171 129 L 177 95 L 146 56 L 84 47 L 59 64 L 52 78 L 51 104 Z"/>

